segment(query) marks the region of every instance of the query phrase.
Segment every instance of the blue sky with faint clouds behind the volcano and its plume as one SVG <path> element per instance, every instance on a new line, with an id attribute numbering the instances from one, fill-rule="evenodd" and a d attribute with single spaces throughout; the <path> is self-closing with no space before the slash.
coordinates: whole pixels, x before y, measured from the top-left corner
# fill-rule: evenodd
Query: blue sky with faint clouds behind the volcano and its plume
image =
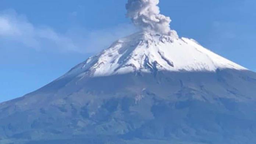
<path id="1" fill-rule="evenodd" d="M 1 0 L 0 102 L 63 75 L 136 31 L 127 0 Z M 180 37 L 256 70 L 255 0 L 160 0 Z"/>

